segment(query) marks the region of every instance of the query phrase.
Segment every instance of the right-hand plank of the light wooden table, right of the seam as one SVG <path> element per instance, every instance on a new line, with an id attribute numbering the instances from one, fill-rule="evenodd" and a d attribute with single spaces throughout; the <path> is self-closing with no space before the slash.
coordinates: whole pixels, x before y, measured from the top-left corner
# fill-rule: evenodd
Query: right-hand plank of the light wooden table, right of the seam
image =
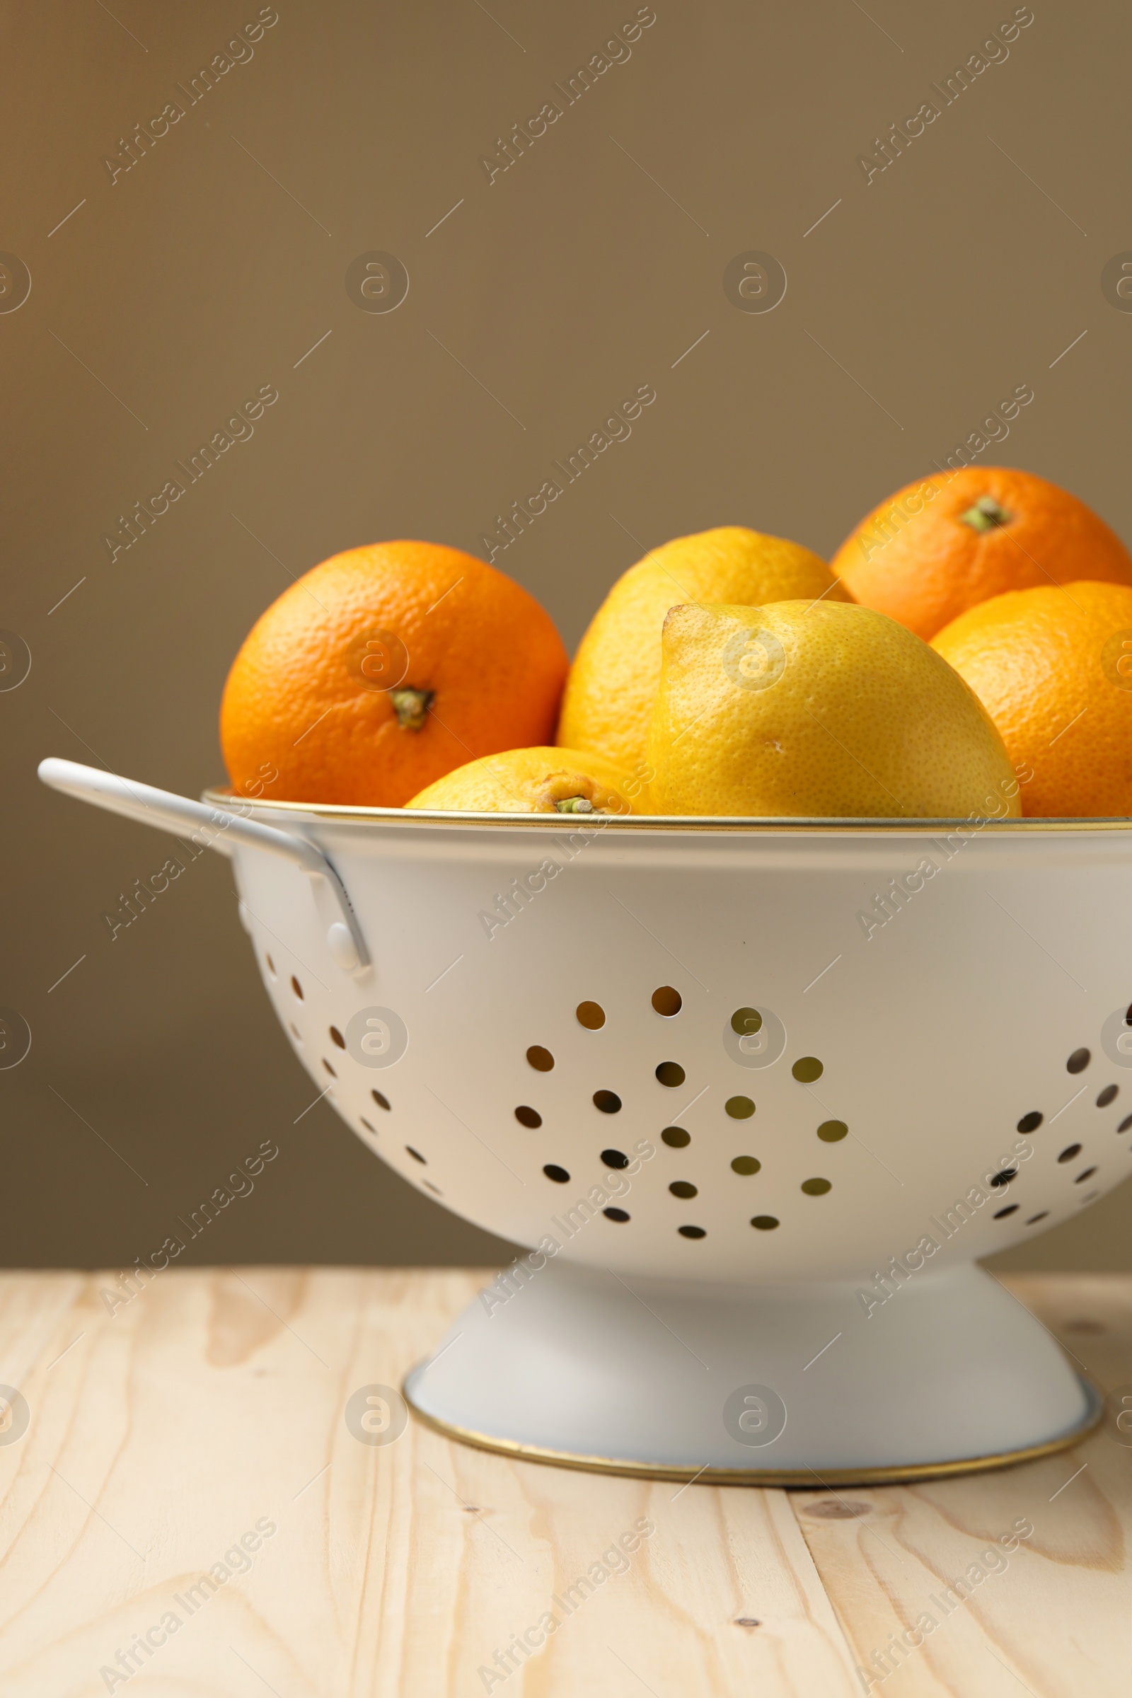
<path id="1" fill-rule="evenodd" d="M 1101 1391 L 1132 1380 L 1132 1279 L 1015 1275 L 1003 1284 Z M 1112 1421 L 1027 1467 L 884 1491 L 794 1493 L 791 1506 L 857 1666 L 872 1676 L 869 1691 L 1127 1698 L 1132 1448 L 1115 1442 Z M 1017 1552 L 1000 1549 L 979 1564 L 1017 1521 L 1034 1533 Z M 959 1593 L 944 1589 L 971 1564 L 986 1577 L 971 1574 L 967 1596 L 954 1603 Z M 937 1622 L 923 1644 L 891 1654 L 893 1635 L 923 1613 Z M 886 1649 L 888 1661 L 876 1662 Z"/>

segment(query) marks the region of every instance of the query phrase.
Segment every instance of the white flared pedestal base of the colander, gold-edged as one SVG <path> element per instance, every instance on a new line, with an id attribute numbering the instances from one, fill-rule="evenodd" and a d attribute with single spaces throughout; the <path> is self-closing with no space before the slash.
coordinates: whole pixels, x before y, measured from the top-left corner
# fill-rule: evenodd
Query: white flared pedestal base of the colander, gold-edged
<path id="1" fill-rule="evenodd" d="M 925 1270 L 871 1311 L 850 1280 L 715 1285 L 562 1262 L 504 1280 L 409 1374 L 406 1397 L 451 1437 L 533 1460 L 896 1481 L 1045 1455 L 1098 1416 L 1045 1328 L 974 1263 Z"/>

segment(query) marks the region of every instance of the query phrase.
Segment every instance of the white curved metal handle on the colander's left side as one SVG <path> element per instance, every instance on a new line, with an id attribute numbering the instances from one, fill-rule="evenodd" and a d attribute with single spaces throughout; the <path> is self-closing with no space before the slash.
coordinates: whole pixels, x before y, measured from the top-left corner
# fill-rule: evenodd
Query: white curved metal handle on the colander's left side
<path id="1" fill-rule="evenodd" d="M 326 925 L 326 944 L 336 964 L 343 973 L 363 973 L 368 968 L 370 953 L 346 888 L 322 851 L 305 837 L 248 820 L 229 808 L 212 808 L 204 801 L 177 796 L 170 790 L 154 790 L 153 784 L 104 773 L 97 766 L 81 766 L 78 761 L 54 757 L 41 761 L 39 776 L 53 790 L 78 796 L 80 801 L 92 801 L 110 813 L 124 813 L 126 818 L 141 820 L 143 825 L 156 825 L 158 830 L 175 835 L 204 832 L 205 849 L 231 854 L 231 844 L 244 844 L 248 849 L 261 849 L 290 861 L 311 880 L 319 919 Z M 192 841 L 200 842 L 200 837 Z"/>

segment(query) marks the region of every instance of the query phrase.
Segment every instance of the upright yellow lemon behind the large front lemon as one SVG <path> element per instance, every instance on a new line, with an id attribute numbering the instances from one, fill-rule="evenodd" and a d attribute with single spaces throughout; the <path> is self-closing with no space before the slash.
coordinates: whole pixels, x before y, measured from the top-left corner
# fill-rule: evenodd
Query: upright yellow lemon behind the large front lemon
<path id="1" fill-rule="evenodd" d="M 660 627 L 681 601 L 762 604 L 786 596 L 847 601 L 825 560 L 796 542 L 725 525 L 650 548 L 625 572 L 582 637 L 562 701 L 558 742 L 643 774 L 660 679 Z"/>

